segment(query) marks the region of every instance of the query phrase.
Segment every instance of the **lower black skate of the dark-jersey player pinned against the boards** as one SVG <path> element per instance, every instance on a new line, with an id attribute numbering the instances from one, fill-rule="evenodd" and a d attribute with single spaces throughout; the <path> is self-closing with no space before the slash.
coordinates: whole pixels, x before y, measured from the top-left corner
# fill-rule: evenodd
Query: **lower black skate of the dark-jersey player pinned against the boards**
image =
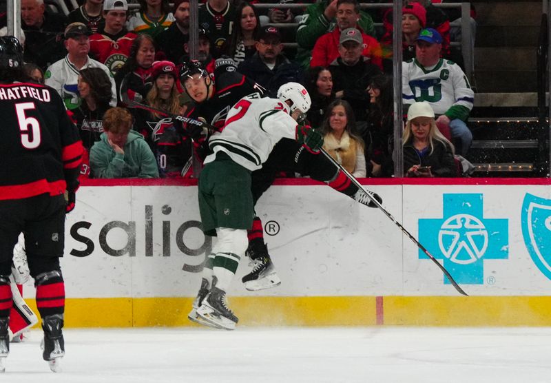
<path id="1" fill-rule="evenodd" d="M 275 266 L 271 262 L 268 248 L 263 241 L 251 241 L 245 255 L 251 258 L 249 266 L 253 267 L 253 271 L 242 278 L 245 289 L 258 291 L 271 289 L 281 284 L 280 277 L 275 273 Z"/>

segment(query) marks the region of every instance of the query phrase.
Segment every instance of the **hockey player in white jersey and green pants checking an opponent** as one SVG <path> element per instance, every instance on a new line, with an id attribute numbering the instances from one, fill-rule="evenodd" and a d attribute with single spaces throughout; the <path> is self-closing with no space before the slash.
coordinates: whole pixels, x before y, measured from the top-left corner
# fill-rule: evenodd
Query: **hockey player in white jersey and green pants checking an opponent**
<path id="1" fill-rule="evenodd" d="M 226 292 L 247 249 L 247 229 L 253 224 L 251 172 L 262 167 L 281 138 L 293 138 L 306 150 L 319 153 L 320 133 L 297 118 L 311 107 L 299 83 L 287 83 L 278 99 L 246 96 L 233 105 L 220 134 L 211 136 L 212 154 L 205 158 L 199 176 L 199 210 L 202 229 L 216 235 L 212 285 L 197 314 L 214 327 L 235 329 L 238 318 L 227 307 Z"/>

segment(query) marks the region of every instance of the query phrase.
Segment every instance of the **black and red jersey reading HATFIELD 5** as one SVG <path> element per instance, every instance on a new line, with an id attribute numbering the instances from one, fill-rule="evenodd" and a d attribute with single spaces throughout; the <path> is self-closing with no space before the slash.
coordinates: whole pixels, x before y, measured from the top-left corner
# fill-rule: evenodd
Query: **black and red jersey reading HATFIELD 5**
<path id="1" fill-rule="evenodd" d="M 56 196 L 78 187 L 82 143 L 55 90 L 0 84 L 0 200 Z"/>

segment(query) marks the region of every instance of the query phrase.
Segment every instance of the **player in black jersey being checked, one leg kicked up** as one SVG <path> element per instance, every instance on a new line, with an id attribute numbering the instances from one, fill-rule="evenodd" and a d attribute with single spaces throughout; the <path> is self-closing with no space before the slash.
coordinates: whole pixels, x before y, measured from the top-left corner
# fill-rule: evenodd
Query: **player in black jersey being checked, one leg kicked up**
<path id="1" fill-rule="evenodd" d="M 243 95 L 254 90 L 261 90 L 260 85 L 243 87 L 240 84 L 251 84 L 246 76 L 236 72 L 236 67 L 231 59 L 219 59 L 224 65 L 217 65 L 214 72 L 214 81 L 197 62 L 191 62 L 180 70 L 180 81 L 191 99 L 196 102 L 196 107 L 191 110 L 188 117 L 204 118 L 207 123 L 214 125 L 218 130 L 223 128 L 223 121 L 227 111 L 235 105 Z M 260 93 L 259 93 L 260 94 Z M 198 137 L 199 132 L 196 136 Z M 326 182 L 333 189 L 340 191 L 358 202 L 375 207 L 370 204 L 371 199 L 359 190 L 349 178 L 346 177 L 325 156 L 313 155 L 305 151 L 301 145 L 287 138 L 275 145 L 266 163 L 252 174 L 253 202 L 256 204 L 273 183 L 278 172 L 296 172 L 304 176 L 310 176 L 315 180 Z M 375 194 L 377 200 L 380 197 Z M 245 288 L 255 291 L 268 289 L 280 284 L 280 278 L 275 273 L 273 262 L 264 243 L 262 222 L 256 217 L 253 227 L 249 230 L 249 247 L 247 256 L 253 261 L 253 270 L 243 277 Z M 206 262 L 205 267 L 209 267 Z M 200 295 L 198 296 L 200 302 Z M 197 303 L 198 303 L 197 302 Z M 191 317 L 190 317 L 191 318 Z M 191 318 L 193 320 L 193 318 Z"/>

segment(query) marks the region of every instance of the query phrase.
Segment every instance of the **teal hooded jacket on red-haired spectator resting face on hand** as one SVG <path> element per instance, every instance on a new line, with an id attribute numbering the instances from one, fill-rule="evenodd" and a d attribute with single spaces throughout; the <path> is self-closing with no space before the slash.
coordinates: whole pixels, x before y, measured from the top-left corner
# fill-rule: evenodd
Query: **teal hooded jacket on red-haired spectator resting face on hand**
<path id="1" fill-rule="evenodd" d="M 123 148 L 125 154 L 118 154 L 107 142 L 107 134 L 100 136 L 90 150 L 90 167 L 94 178 L 158 178 L 155 156 L 149 145 L 138 132 L 131 130 Z"/>

